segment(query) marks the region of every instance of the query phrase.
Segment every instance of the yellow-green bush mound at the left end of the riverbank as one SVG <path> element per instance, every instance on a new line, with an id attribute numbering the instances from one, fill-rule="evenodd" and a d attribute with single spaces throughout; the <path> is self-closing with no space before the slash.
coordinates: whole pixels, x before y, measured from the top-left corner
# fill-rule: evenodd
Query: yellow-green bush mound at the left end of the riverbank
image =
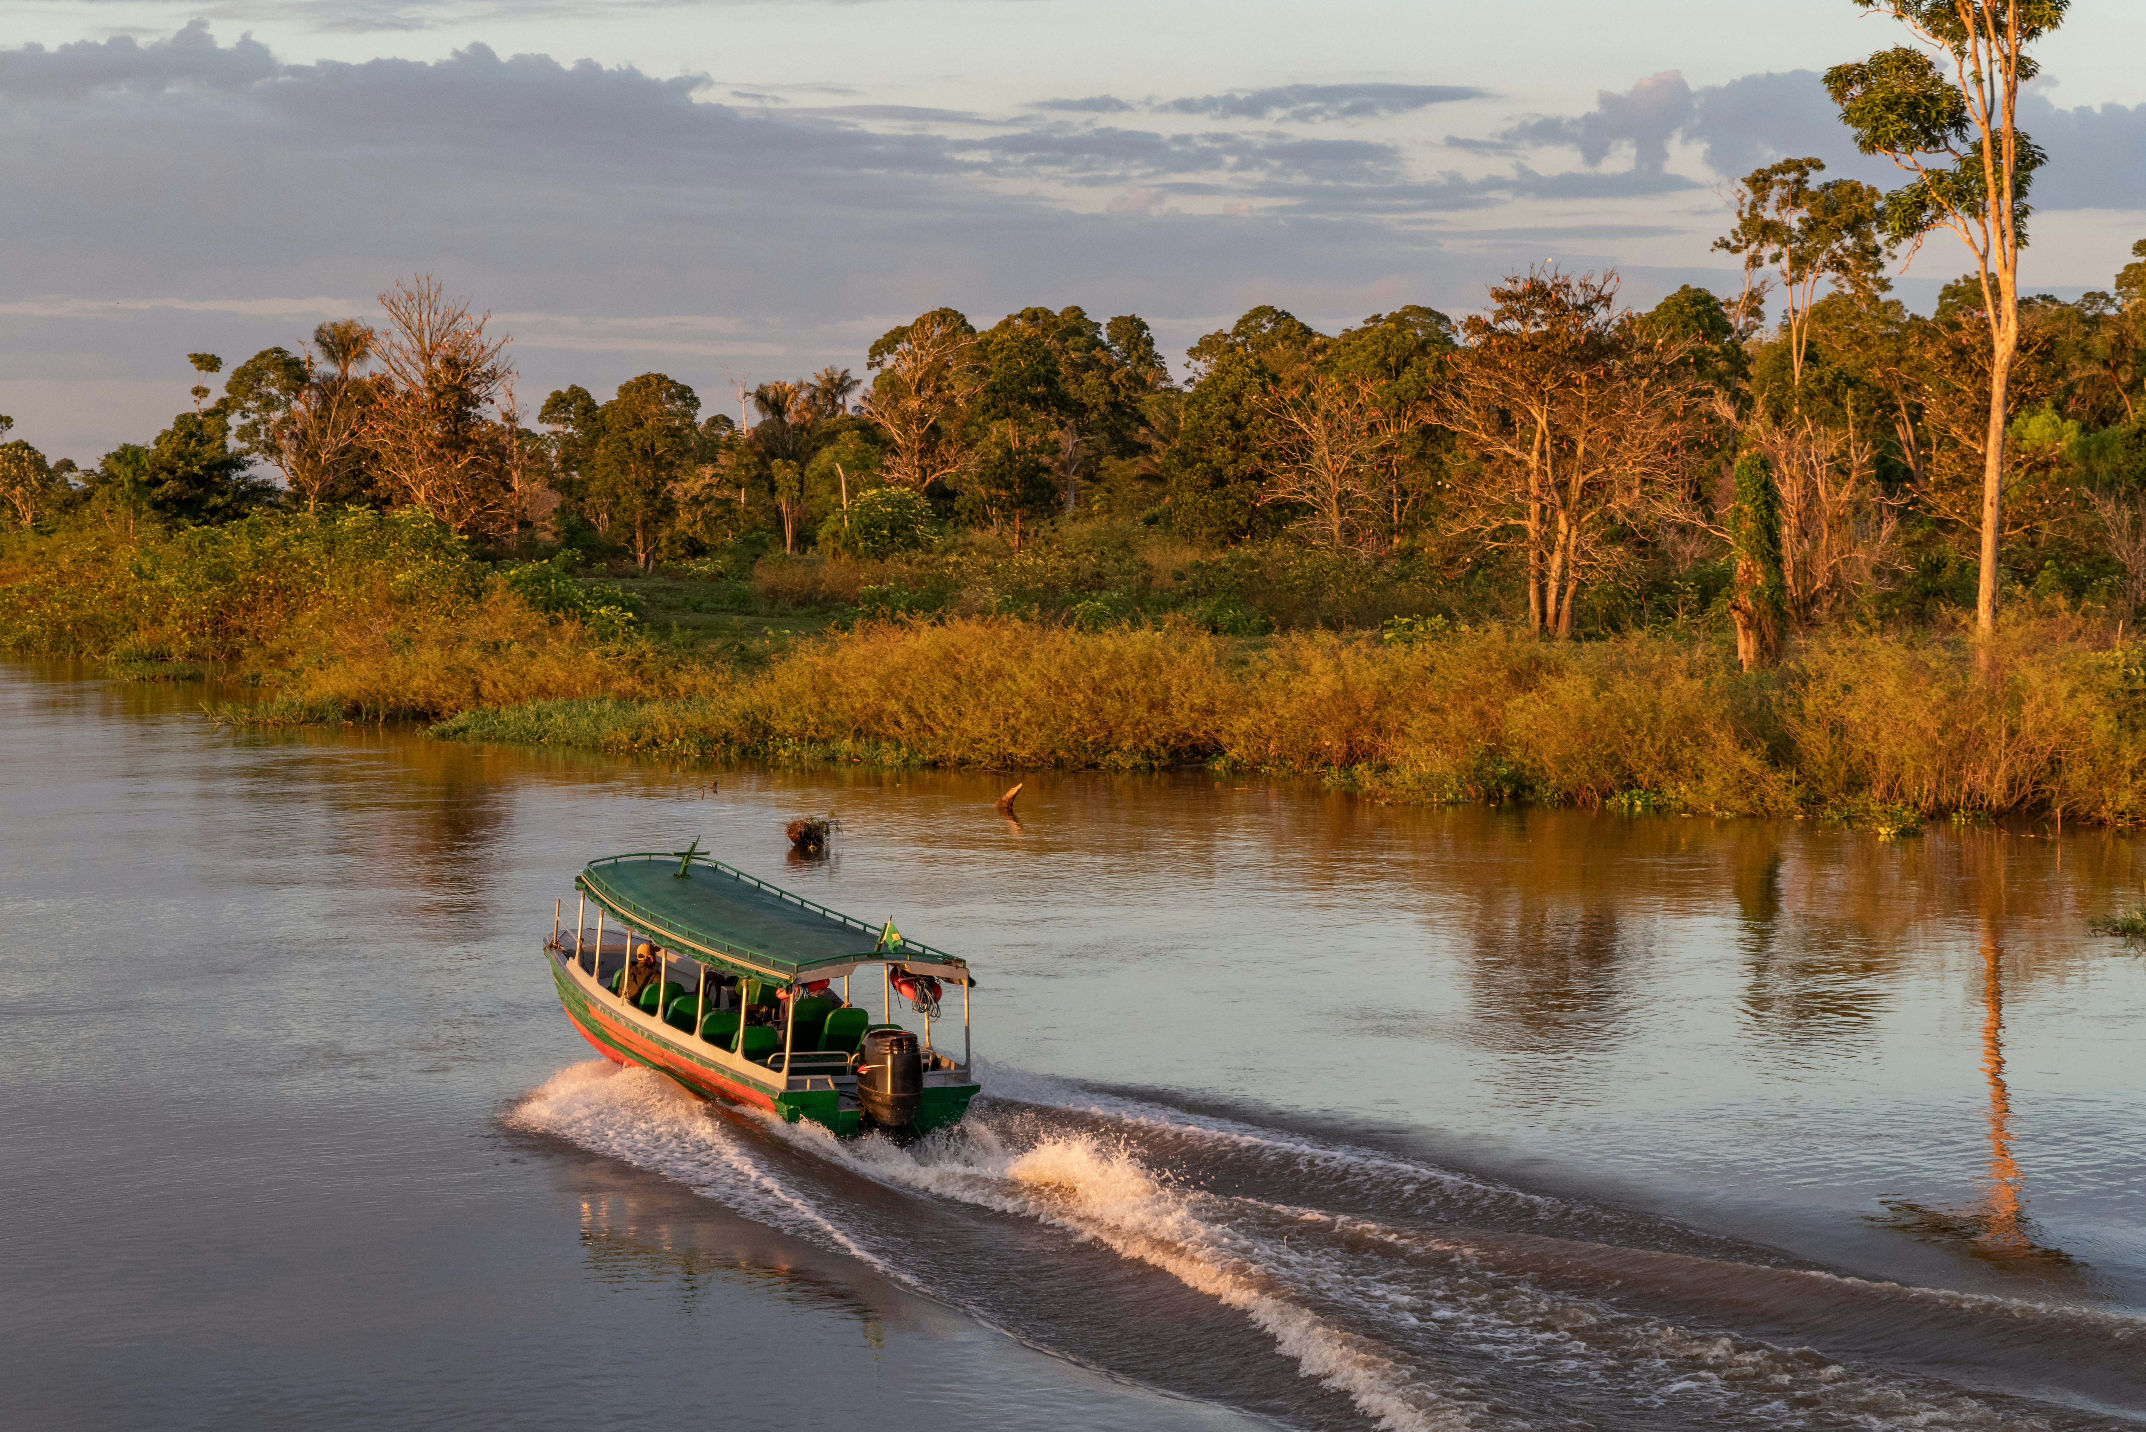
<path id="1" fill-rule="evenodd" d="M 590 623 L 590 603 L 545 612 L 526 586 L 414 513 L 86 524 L 0 552 L 0 648 L 137 674 L 221 663 L 266 698 L 223 715 L 255 724 L 702 689 L 706 674 L 631 635 L 622 608 L 594 603 L 605 620 Z"/>

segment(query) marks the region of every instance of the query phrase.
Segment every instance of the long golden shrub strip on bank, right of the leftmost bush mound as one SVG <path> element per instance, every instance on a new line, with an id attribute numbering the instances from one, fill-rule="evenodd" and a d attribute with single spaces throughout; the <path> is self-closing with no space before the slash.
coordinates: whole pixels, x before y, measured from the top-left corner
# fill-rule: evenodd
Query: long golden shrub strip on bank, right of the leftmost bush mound
<path id="1" fill-rule="evenodd" d="M 1416 644 L 1191 625 L 884 623 L 670 702 L 470 711 L 438 734 L 687 760 L 1208 762 L 1388 799 L 1792 814 L 2146 818 L 2146 674 L 2075 620 L 1807 642 L 1775 674 L 1665 638 Z"/>

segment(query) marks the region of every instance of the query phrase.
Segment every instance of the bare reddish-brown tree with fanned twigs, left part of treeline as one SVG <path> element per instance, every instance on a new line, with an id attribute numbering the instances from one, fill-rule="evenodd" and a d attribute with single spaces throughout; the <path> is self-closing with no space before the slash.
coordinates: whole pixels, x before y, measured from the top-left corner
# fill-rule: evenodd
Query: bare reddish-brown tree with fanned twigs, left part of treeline
<path id="1" fill-rule="evenodd" d="M 487 335 L 491 316 L 472 318 L 431 275 L 397 279 L 380 307 L 386 382 L 365 421 L 380 477 L 453 532 L 515 530 L 513 427 L 496 417 L 513 380 L 506 337 Z"/>

